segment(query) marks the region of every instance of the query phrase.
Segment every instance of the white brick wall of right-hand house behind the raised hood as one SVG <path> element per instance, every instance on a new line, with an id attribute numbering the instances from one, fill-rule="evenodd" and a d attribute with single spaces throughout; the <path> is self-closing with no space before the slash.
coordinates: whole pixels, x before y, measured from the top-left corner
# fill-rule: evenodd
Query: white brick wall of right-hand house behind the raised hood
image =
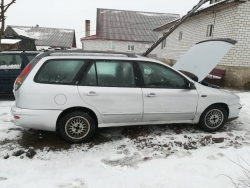
<path id="1" fill-rule="evenodd" d="M 219 65 L 250 67 L 250 1 L 215 13 L 191 17 L 168 38 L 165 49 L 157 48 L 157 57 L 178 60 L 197 42 L 211 38 L 231 38 L 238 43 Z M 214 24 L 212 37 L 206 37 L 207 26 Z M 166 30 L 165 30 L 166 31 Z M 159 36 L 163 32 L 158 33 Z M 182 31 L 183 39 L 179 40 Z M 209 52 L 208 52 L 209 53 Z"/>

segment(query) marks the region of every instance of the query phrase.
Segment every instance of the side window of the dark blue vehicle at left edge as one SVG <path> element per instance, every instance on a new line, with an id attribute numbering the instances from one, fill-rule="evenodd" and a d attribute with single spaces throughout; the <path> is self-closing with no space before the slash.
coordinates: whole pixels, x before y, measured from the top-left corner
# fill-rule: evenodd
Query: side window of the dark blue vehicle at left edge
<path id="1" fill-rule="evenodd" d="M 0 69 L 21 69 L 22 57 L 17 54 L 0 54 Z"/>

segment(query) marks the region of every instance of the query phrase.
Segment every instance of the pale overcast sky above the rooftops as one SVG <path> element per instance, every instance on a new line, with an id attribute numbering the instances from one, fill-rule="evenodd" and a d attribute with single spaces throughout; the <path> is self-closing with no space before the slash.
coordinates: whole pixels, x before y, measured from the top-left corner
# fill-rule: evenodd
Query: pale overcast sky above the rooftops
<path id="1" fill-rule="evenodd" d="M 5 0 L 8 2 L 9 0 Z M 76 30 L 76 42 L 85 36 L 85 20 L 96 29 L 96 8 L 184 15 L 199 0 L 17 0 L 6 13 L 7 25 L 55 27 Z"/>

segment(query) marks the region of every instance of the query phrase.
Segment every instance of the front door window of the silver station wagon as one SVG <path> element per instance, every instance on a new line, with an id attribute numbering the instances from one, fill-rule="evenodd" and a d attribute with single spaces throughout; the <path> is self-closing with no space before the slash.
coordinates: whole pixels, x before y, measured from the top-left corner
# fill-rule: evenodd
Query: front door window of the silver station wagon
<path id="1" fill-rule="evenodd" d="M 150 62 L 140 62 L 139 66 L 147 88 L 188 88 L 188 81 L 168 67 Z"/>

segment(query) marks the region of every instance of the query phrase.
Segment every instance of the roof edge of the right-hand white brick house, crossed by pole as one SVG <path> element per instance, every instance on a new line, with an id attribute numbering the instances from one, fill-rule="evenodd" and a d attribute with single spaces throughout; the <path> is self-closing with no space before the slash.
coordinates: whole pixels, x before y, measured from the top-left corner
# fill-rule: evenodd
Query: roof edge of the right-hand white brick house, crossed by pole
<path id="1" fill-rule="evenodd" d="M 214 10 L 226 9 L 226 8 L 232 7 L 234 5 L 237 5 L 239 3 L 246 2 L 246 1 L 247 0 L 221 0 L 219 2 L 209 4 L 205 7 L 198 9 L 192 16 L 199 15 L 202 13 L 212 12 Z M 192 16 L 190 16 L 190 17 L 192 17 Z M 166 22 L 165 24 L 154 28 L 154 31 L 162 31 L 164 29 L 167 29 L 167 28 L 173 26 L 178 20 L 180 20 L 180 18 L 176 19 L 176 20 L 172 20 L 170 22 Z"/>

